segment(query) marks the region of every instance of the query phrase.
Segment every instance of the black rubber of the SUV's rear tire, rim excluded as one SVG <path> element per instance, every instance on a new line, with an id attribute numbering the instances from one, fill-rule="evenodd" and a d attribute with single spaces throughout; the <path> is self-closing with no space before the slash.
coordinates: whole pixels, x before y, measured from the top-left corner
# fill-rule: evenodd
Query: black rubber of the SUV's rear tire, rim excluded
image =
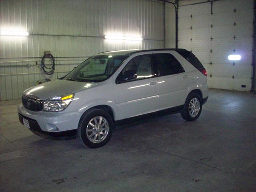
<path id="1" fill-rule="evenodd" d="M 189 104 L 190 104 L 190 101 L 193 98 L 197 98 L 199 100 L 199 102 L 200 102 L 200 110 L 199 110 L 198 114 L 196 116 L 194 116 L 194 117 L 191 116 L 190 113 L 189 113 Z M 187 121 L 194 121 L 194 120 L 196 120 L 200 116 L 201 112 L 202 112 L 202 98 L 197 93 L 194 93 L 194 92 L 190 93 L 188 95 L 188 97 L 186 98 L 186 102 L 184 104 L 184 108 L 180 112 L 182 118 L 184 118 Z"/>

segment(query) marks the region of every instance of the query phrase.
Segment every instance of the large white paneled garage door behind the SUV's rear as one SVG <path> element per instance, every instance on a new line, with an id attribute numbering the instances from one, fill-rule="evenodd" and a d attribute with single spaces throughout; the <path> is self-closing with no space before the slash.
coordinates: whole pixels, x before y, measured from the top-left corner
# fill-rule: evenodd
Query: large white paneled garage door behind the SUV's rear
<path id="1" fill-rule="evenodd" d="M 179 7 L 178 47 L 192 51 L 203 63 L 210 88 L 251 89 L 252 33 L 253 1 Z M 242 58 L 230 61 L 230 54 Z"/>

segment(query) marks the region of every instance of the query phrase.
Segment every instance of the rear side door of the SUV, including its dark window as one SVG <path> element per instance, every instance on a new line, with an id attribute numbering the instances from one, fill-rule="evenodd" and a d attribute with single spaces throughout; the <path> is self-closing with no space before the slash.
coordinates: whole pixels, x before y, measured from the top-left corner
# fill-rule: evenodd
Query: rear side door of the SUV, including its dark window
<path id="1" fill-rule="evenodd" d="M 158 64 L 159 110 L 183 105 L 189 86 L 185 67 L 174 56 L 174 51 L 153 51 Z"/>

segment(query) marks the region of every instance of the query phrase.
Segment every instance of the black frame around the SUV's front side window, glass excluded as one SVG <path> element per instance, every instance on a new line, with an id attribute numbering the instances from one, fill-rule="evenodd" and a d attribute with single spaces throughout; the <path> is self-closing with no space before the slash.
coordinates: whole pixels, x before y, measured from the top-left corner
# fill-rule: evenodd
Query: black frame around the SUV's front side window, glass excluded
<path id="1" fill-rule="evenodd" d="M 152 68 L 152 77 L 146 77 L 146 78 L 135 78 L 135 79 L 131 79 L 131 80 L 124 80 L 124 81 L 121 81 L 121 82 L 118 82 L 117 81 L 117 78 L 118 76 L 122 73 L 122 71 L 124 70 L 124 68 L 136 57 L 140 57 L 140 56 L 149 56 L 150 57 L 150 61 L 151 61 L 151 68 Z M 148 53 L 148 54 L 141 54 L 141 55 L 137 55 L 135 57 L 133 57 L 130 61 L 128 61 L 128 63 L 122 68 L 122 70 L 119 72 L 119 74 L 116 76 L 116 80 L 115 80 L 115 83 L 116 84 L 122 84 L 122 83 L 128 83 L 128 82 L 133 82 L 133 81 L 139 81 L 139 80 L 145 80 L 145 79 L 150 79 L 150 78 L 155 78 L 157 77 L 159 74 L 159 69 L 158 69 L 158 66 L 157 66 L 157 63 L 156 63 L 156 59 L 154 58 L 153 54 L 152 53 Z"/>

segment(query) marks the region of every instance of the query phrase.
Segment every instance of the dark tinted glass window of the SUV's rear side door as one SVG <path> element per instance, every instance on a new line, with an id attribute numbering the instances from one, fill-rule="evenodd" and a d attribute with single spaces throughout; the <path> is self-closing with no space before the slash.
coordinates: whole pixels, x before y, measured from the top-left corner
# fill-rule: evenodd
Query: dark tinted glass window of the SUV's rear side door
<path id="1" fill-rule="evenodd" d="M 185 72 L 180 62 L 169 53 L 154 54 L 159 67 L 160 76 Z"/>

